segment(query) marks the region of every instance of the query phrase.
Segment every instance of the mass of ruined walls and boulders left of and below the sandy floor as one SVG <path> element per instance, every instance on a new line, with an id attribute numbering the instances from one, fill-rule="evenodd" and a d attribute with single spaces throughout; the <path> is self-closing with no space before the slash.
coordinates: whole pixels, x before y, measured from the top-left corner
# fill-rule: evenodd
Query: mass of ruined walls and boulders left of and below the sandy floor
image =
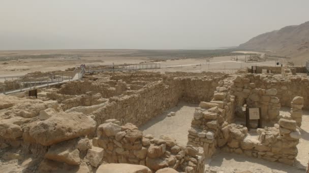
<path id="1" fill-rule="evenodd" d="M 169 137 L 152 139 L 128 123 L 139 126 L 180 100 L 210 101 L 219 81 L 229 76 L 211 74 L 106 73 L 42 90 L 37 100 L 6 100 L 0 104 L 5 109 L 1 117 L 6 117 L 0 119 L 0 146 L 8 151 L 7 159 L 36 159 L 30 171 L 90 172 L 107 161 L 145 164 L 154 171 L 173 167 L 202 172 L 202 148 L 174 144 Z M 108 121 L 111 118 L 118 120 Z M 116 134 L 120 127 L 125 135 L 120 140 L 110 136 L 106 124 L 116 125 L 109 129 Z"/>

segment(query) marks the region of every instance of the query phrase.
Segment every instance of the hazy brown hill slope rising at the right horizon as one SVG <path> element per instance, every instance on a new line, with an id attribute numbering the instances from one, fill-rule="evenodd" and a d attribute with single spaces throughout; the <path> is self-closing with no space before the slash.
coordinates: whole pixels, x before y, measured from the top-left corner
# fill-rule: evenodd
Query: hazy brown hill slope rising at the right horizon
<path id="1" fill-rule="evenodd" d="M 239 45 L 238 48 L 267 51 L 269 55 L 290 57 L 289 61 L 303 64 L 309 60 L 309 21 L 263 33 Z"/>

